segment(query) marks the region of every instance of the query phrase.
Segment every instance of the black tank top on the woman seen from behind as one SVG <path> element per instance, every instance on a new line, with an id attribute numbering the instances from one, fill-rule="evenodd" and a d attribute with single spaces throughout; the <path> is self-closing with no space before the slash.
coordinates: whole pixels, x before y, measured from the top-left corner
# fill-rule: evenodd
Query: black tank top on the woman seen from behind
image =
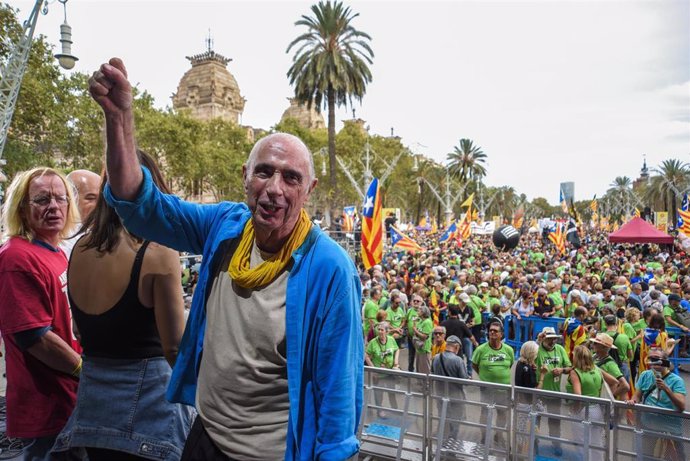
<path id="1" fill-rule="evenodd" d="M 148 241 L 144 242 L 137 251 L 124 294 L 104 313 L 91 315 L 79 309 L 68 285 L 72 315 L 81 333 L 81 345 L 87 357 L 144 359 L 163 356 L 153 309 L 139 301 L 139 274 L 148 244 Z"/>

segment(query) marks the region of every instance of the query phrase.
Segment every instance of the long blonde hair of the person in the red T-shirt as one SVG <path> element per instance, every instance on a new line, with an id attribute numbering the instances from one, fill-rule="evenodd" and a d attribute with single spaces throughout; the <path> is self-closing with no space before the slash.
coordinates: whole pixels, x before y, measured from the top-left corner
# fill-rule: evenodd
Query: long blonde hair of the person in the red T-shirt
<path id="1" fill-rule="evenodd" d="M 65 227 L 60 231 L 60 239 L 69 238 L 79 223 L 79 209 L 74 198 L 74 188 L 67 181 L 65 175 L 48 167 L 38 167 L 17 173 L 7 188 L 7 199 L 2 207 L 2 220 L 6 237 L 21 237 L 33 240 L 34 233 L 29 228 L 26 219 L 26 209 L 29 206 L 29 186 L 31 181 L 43 176 L 57 176 L 65 186 L 67 194 L 67 214 Z"/>

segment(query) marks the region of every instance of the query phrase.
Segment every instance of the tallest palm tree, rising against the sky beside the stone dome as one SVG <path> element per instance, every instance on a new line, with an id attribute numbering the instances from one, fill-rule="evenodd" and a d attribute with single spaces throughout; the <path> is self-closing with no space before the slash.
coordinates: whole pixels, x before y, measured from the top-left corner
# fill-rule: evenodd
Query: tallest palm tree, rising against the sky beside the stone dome
<path id="1" fill-rule="evenodd" d="M 295 87 L 295 98 L 308 107 L 323 104 L 328 108 L 328 163 L 331 200 L 338 195 L 335 159 L 335 107 L 362 100 L 371 82 L 374 52 L 371 37 L 352 26 L 359 13 L 342 2 L 319 2 L 311 7 L 312 16 L 303 15 L 295 22 L 306 32 L 290 43 L 286 53 L 295 48 L 292 66 L 287 72 Z"/>

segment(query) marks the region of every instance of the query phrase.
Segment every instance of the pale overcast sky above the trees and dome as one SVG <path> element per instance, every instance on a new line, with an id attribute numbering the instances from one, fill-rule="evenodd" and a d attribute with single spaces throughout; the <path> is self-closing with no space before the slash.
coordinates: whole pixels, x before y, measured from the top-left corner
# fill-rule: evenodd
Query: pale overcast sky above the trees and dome
<path id="1" fill-rule="evenodd" d="M 28 17 L 33 1 L 8 2 Z M 68 0 L 73 71 L 121 57 L 130 81 L 171 106 L 185 56 L 214 50 L 246 98 L 242 124 L 275 125 L 293 94 L 288 44 L 304 1 Z M 372 37 L 373 81 L 356 116 L 441 163 L 461 138 L 487 155 L 489 186 L 558 202 L 603 195 L 676 158 L 690 162 L 690 0 L 349 1 Z M 58 2 L 37 33 L 59 49 Z M 325 113 L 324 113 L 325 115 Z M 338 127 L 352 109 L 336 113 Z M 374 172 L 376 174 L 376 172 Z"/>

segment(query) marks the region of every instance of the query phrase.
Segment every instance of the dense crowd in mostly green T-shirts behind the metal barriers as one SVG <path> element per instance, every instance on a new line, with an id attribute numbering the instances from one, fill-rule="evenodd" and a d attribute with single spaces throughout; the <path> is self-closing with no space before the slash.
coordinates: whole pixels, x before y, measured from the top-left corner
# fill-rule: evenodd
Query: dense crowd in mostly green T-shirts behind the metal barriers
<path id="1" fill-rule="evenodd" d="M 481 381 L 593 397 L 608 386 L 620 401 L 685 409 L 683 380 L 666 378 L 674 352 L 688 357 L 690 325 L 679 315 L 690 308 L 683 251 L 611 245 L 596 231 L 564 255 L 538 233 L 505 252 L 490 236 L 450 246 L 437 237 L 420 233 L 414 238 L 426 251 L 394 248 L 381 264 L 360 267 L 365 343 L 371 328 L 394 322 L 389 341 L 407 349 L 407 371 L 428 373 L 433 363 L 435 374 L 474 371 Z M 450 363 L 449 343 L 464 364 L 452 373 L 436 365 L 440 357 Z M 658 400 L 641 391 L 650 387 L 661 390 Z M 563 411 L 560 402 L 546 403 L 551 413 Z M 548 426 L 560 436 L 560 421 Z"/>

